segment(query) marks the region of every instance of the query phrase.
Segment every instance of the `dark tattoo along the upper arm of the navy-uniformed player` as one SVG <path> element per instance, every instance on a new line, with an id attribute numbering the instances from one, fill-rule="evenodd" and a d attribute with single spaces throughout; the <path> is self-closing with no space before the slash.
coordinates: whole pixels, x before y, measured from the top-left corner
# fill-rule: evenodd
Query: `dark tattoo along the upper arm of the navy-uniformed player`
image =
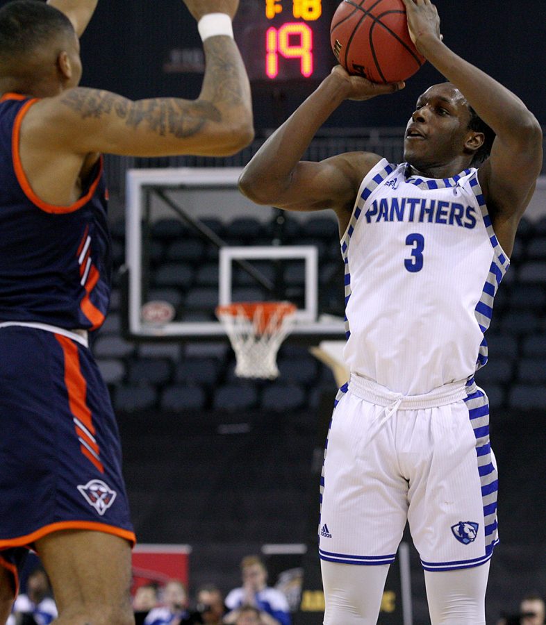
<path id="1" fill-rule="evenodd" d="M 162 137 L 174 135 L 178 139 L 195 135 L 207 121 L 222 120 L 216 106 L 203 100 L 156 98 L 133 102 L 111 92 L 78 88 L 67 92 L 61 102 L 82 119 L 114 114 L 131 128 L 144 124 Z"/>

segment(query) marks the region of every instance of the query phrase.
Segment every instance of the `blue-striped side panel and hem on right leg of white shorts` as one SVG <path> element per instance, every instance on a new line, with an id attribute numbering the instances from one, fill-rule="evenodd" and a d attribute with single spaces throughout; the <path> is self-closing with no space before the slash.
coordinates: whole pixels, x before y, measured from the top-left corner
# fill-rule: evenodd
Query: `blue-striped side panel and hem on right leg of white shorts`
<path id="1" fill-rule="evenodd" d="M 485 533 L 485 553 L 472 560 L 456 560 L 454 562 L 425 562 L 421 560 L 425 571 L 450 571 L 452 569 L 468 569 L 484 564 L 493 555 L 493 549 L 499 542 L 497 533 L 497 490 L 499 487 L 497 469 L 493 465 L 491 446 L 489 443 L 489 401 L 486 394 L 469 381 L 469 390 L 473 392 L 463 401 L 468 408 L 468 418 L 476 437 L 476 456 L 481 484 L 481 500 L 483 502 L 483 531 Z"/>

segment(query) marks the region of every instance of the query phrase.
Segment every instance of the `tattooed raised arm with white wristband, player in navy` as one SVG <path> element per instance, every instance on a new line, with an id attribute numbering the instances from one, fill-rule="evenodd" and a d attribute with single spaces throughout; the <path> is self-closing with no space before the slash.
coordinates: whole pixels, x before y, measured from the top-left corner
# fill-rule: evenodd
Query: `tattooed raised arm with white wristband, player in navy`
<path id="1" fill-rule="evenodd" d="M 68 152 L 132 156 L 224 156 L 249 144 L 250 86 L 231 31 L 238 0 L 185 3 L 204 39 L 206 69 L 196 100 L 131 101 L 103 90 L 65 89 L 33 107 L 41 140 Z"/>

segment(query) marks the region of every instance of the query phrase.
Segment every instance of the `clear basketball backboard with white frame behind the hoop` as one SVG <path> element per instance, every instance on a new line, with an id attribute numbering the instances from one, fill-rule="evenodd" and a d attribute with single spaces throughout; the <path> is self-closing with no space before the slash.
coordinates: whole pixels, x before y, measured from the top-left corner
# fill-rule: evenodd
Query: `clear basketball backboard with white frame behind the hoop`
<path id="1" fill-rule="evenodd" d="M 256 206 L 238 192 L 237 182 L 240 168 L 166 168 L 129 169 L 126 177 L 126 267 L 129 271 L 128 303 L 129 333 L 135 338 L 158 340 L 161 338 L 223 338 L 222 324 L 215 319 L 214 309 L 218 304 L 237 301 L 245 293 L 238 289 L 237 276 L 245 274 L 244 283 L 251 291 L 256 283 L 260 289 L 257 299 L 288 300 L 297 304 L 297 314 L 292 336 L 319 338 L 343 338 L 345 326 L 342 316 L 324 314 L 320 306 L 320 251 L 316 245 L 306 244 L 305 238 L 281 240 L 278 237 L 258 237 L 258 244 L 251 240 L 223 240 L 215 228 L 210 228 L 211 220 L 228 222 L 230 219 L 259 219 L 264 227 L 274 219 L 272 208 Z M 208 218 L 208 219 L 206 219 Z M 154 240 L 154 227 L 160 222 L 172 224 L 169 249 L 179 251 L 167 253 L 163 261 L 157 261 Z M 180 222 L 181 225 L 177 224 Z M 303 222 L 302 222 L 303 223 Z M 304 226 L 301 226 L 304 228 Z M 157 228 L 156 228 L 157 229 Z M 217 228 L 216 228 L 217 230 Z M 179 236 L 174 231 L 179 231 Z M 164 233 L 165 234 L 165 233 Z M 185 244 L 202 242 L 203 253 L 190 260 L 185 258 Z M 274 244 L 272 244 L 274 243 Z M 334 235 L 331 243 L 335 246 Z M 322 244 L 322 242 L 321 242 Z M 165 247 L 165 246 L 163 246 Z M 212 250 L 212 251 L 211 251 Z M 163 252 L 162 252 L 163 253 Z M 158 289 L 154 275 L 159 269 L 154 266 L 163 262 L 163 269 L 171 269 L 176 274 L 167 290 Z M 174 262 L 173 258 L 177 258 Z M 184 258 L 183 262 L 180 258 Z M 169 264 L 170 263 L 170 264 Z M 338 263 L 341 269 L 341 257 Z M 190 267 L 191 265 L 191 267 Z M 209 281 L 206 287 L 194 280 L 202 274 L 204 266 L 214 272 L 217 267 L 217 284 Z M 187 267 L 186 267 L 187 266 Z M 283 276 L 297 274 L 297 285 L 283 281 Z M 184 281 L 182 273 L 188 269 L 193 278 Z M 155 272 L 155 274 L 154 274 Z M 165 271 L 161 274 L 165 274 Z M 209 276 L 210 277 L 210 276 Z M 180 297 L 176 297 L 177 280 Z M 193 281 L 192 281 L 193 280 Z M 254 282 L 253 282 L 254 281 Z M 182 284 L 183 283 L 183 284 Z M 191 285 L 190 285 L 191 284 Z M 197 285 L 196 285 L 197 284 Z M 340 274 L 340 301 L 342 301 L 342 274 Z M 213 291 L 215 290 L 215 293 Z M 168 291 L 168 292 L 167 292 Z M 243 291 L 243 293 L 242 293 Z M 165 315 L 143 315 L 154 303 L 171 297 L 170 313 Z M 167 297 L 167 303 L 168 299 Z M 208 314 L 195 313 L 196 298 L 206 299 Z M 247 298 L 245 298 L 247 299 Z M 157 309 L 154 309 L 157 310 Z M 193 313 L 191 311 L 194 311 Z"/>

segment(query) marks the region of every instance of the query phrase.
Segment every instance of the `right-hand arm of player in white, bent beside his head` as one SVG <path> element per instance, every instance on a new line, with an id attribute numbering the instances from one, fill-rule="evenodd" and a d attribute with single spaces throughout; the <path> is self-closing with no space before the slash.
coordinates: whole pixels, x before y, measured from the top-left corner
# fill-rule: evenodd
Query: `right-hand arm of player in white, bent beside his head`
<path id="1" fill-rule="evenodd" d="M 533 194 L 543 162 L 542 131 L 536 117 L 503 85 L 450 50 L 440 39 L 430 0 L 404 0 L 417 49 L 463 94 L 496 134 L 479 181 L 497 238 L 511 249 L 515 229 Z"/>

